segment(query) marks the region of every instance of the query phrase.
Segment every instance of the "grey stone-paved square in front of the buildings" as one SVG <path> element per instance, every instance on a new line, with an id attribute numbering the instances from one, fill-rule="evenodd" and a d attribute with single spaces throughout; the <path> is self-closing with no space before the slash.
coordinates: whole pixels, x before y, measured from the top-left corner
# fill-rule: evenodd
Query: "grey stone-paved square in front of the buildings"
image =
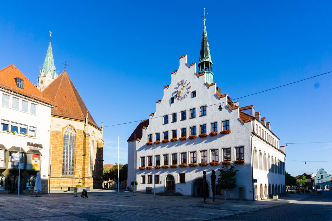
<path id="1" fill-rule="evenodd" d="M 307 195 L 306 195 L 307 196 Z M 54 192 L 48 197 L 0 195 L 1 220 L 210 220 L 268 207 L 299 203 L 298 195 L 279 201 L 216 200 L 223 204 L 199 203 L 202 198 L 190 196 L 154 196 L 153 194 L 116 191 L 92 191 L 88 198 L 72 193 Z M 305 196 L 302 195 L 302 198 Z M 211 201 L 211 199 L 208 199 Z M 310 202 L 310 201 L 306 201 Z M 322 206 L 322 205 L 320 205 Z M 256 213 L 256 212 L 255 212 Z M 317 213 L 317 210 L 312 211 Z M 229 220 L 227 218 L 227 220 Z M 326 220 L 326 219 L 325 219 Z"/>

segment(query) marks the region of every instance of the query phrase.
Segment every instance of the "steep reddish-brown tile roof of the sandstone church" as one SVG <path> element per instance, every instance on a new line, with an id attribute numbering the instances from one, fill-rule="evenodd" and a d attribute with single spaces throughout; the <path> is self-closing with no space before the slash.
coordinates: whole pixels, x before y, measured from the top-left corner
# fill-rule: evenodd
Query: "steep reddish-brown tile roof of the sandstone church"
<path id="1" fill-rule="evenodd" d="M 51 115 L 85 121 L 88 112 L 89 123 L 99 128 L 66 71 L 50 83 L 42 94 L 56 105 Z"/>

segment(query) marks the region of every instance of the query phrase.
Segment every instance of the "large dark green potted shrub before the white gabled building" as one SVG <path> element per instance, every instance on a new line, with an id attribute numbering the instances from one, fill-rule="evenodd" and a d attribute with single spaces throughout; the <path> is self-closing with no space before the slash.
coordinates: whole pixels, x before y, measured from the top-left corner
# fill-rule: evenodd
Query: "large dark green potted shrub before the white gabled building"
<path id="1" fill-rule="evenodd" d="M 230 198 L 231 189 L 235 188 L 236 185 L 236 173 L 238 170 L 235 169 L 235 165 L 222 165 L 221 168 L 218 169 L 219 177 L 218 184 L 221 189 L 224 190 L 225 199 Z"/>

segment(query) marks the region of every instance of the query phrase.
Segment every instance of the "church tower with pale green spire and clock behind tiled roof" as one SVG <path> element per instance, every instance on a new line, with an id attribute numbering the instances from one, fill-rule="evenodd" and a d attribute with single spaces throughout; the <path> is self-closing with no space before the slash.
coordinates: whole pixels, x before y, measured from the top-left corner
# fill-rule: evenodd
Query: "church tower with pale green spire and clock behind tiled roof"
<path id="1" fill-rule="evenodd" d="M 42 65 L 42 69 L 39 70 L 39 79 L 37 88 L 43 91 L 58 75 L 56 74 L 56 68 L 54 66 L 54 59 L 51 45 L 51 33 L 49 35 L 49 44 L 46 52 L 45 61 Z"/>

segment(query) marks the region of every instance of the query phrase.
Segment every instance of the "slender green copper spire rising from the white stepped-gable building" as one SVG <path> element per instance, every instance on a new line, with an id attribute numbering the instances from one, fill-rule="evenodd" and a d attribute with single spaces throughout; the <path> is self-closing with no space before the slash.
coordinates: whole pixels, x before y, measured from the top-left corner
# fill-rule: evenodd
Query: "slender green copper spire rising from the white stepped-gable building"
<path id="1" fill-rule="evenodd" d="M 204 21 L 204 27 L 203 27 L 200 62 L 198 63 L 198 70 L 199 74 L 203 72 L 206 73 L 207 83 L 213 83 L 212 60 L 207 40 L 207 28 L 205 27 L 205 19 L 203 21 Z"/>

